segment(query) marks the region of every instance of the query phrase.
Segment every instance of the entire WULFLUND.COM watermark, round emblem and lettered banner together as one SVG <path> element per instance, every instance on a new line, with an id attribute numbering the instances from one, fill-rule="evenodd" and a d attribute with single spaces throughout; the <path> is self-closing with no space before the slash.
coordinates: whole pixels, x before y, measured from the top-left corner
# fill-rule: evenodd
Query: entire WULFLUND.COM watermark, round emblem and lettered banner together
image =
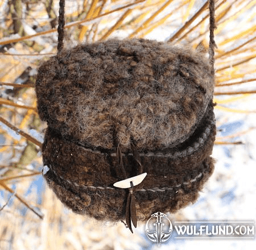
<path id="1" fill-rule="evenodd" d="M 255 222 L 193 221 L 171 222 L 166 214 L 155 213 L 146 223 L 146 235 L 160 244 L 174 239 L 255 239 Z"/>

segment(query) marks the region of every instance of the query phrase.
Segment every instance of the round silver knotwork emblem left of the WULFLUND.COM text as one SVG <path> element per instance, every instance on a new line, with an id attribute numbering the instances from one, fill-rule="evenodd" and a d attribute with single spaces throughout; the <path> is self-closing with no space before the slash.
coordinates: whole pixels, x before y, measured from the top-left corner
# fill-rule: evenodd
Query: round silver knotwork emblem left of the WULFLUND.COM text
<path id="1" fill-rule="evenodd" d="M 158 246 L 167 241 L 172 234 L 172 223 L 163 213 L 152 214 L 146 224 L 146 235 L 148 239 L 157 242 Z"/>

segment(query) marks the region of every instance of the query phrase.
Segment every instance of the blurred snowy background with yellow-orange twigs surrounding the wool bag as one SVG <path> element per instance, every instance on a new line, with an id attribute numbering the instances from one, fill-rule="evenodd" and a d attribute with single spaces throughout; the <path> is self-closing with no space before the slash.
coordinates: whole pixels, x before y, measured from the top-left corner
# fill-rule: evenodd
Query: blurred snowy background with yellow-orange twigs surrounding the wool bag
<path id="1" fill-rule="evenodd" d="M 0 249 L 158 249 L 122 223 L 73 214 L 41 176 L 46 124 L 36 113 L 40 61 L 56 54 L 57 0 L 0 0 Z M 203 0 L 66 0 L 65 47 L 144 37 L 208 50 Z M 104 15 L 103 15 L 104 14 Z M 255 220 L 256 1 L 216 1 L 217 138 L 213 176 L 172 220 Z M 43 218 L 43 219 L 42 219 Z M 160 249 L 255 249 L 255 240 L 176 240 Z"/>

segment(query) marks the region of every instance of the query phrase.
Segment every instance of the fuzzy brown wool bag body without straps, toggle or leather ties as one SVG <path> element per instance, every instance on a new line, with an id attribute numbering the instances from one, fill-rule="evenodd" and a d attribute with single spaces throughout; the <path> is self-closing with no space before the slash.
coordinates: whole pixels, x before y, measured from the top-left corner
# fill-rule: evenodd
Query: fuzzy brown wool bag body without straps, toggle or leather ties
<path id="1" fill-rule="evenodd" d="M 82 44 L 44 62 L 36 95 L 48 128 L 44 174 L 75 213 L 125 218 L 127 177 L 147 176 L 134 187 L 139 220 L 195 202 L 214 166 L 214 82 L 206 55 L 145 39 Z"/>

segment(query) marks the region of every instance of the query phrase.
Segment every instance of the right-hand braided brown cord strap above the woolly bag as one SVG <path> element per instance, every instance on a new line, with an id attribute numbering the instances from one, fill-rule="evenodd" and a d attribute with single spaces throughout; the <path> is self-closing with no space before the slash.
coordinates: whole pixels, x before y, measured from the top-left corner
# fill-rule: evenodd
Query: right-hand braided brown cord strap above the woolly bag
<path id="1" fill-rule="evenodd" d="M 209 41 L 209 60 L 210 60 L 210 73 L 212 74 L 214 80 L 214 48 L 217 48 L 217 45 L 214 41 L 214 29 L 217 28 L 215 24 L 215 7 L 214 0 L 209 0 L 209 10 L 210 10 L 210 41 Z"/>

